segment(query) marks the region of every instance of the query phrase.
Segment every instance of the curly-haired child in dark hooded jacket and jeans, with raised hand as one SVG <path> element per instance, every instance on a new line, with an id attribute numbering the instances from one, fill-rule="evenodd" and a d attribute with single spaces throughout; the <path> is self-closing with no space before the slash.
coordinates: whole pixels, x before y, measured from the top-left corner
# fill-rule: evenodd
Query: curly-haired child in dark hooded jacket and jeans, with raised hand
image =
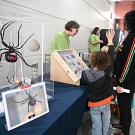
<path id="1" fill-rule="evenodd" d="M 91 68 L 82 71 L 81 84 L 89 88 L 90 114 L 92 119 L 92 135 L 107 135 L 110 125 L 110 103 L 114 98 L 113 84 L 110 78 L 111 57 L 110 49 L 114 50 L 112 38 L 114 31 L 107 32 L 108 46 L 92 53 Z M 111 37 L 111 38 L 109 38 Z"/>

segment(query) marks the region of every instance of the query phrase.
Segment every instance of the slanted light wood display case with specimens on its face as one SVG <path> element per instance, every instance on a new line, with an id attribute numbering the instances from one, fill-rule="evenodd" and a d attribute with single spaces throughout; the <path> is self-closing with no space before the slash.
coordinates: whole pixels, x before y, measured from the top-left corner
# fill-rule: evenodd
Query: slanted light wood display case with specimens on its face
<path id="1" fill-rule="evenodd" d="M 51 54 L 50 74 L 54 81 L 80 85 L 82 70 L 87 65 L 74 49 L 56 50 Z"/>

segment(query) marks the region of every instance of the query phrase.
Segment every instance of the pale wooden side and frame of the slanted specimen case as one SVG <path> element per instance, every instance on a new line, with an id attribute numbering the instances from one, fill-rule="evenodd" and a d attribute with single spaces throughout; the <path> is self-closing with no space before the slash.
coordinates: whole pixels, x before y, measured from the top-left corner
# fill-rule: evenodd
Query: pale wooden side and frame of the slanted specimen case
<path id="1" fill-rule="evenodd" d="M 66 51 L 67 52 L 71 51 L 71 55 L 74 56 L 73 59 L 76 59 L 76 61 L 79 62 L 79 64 L 82 67 L 84 67 L 83 69 L 88 68 L 74 49 L 66 49 L 63 51 L 64 53 L 66 53 Z M 58 82 L 80 85 L 81 76 L 78 76 L 73 72 L 73 69 L 71 69 L 71 67 L 66 63 L 66 61 L 62 58 L 59 52 L 62 51 L 56 50 L 51 54 L 51 66 L 50 66 L 51 79 L 52 80 L 54 79 L 54 81 Z"/>

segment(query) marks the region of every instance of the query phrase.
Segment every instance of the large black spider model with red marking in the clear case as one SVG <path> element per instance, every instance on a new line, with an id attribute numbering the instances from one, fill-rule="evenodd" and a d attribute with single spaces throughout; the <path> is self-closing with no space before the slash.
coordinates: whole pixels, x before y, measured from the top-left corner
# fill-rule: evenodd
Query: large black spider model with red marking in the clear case
<path id="1" fill-rule="evenodd" d="M 7 62 L 16 62 L 18 60 L 18 57 L 25 63 L 25 65 L 29 66 L 29 67 L 32 67 L 32 65 L 29 65 L 21 52 L 19 52 L 20 49 L 23 48 L 23 46 L 27 43 L 27 41 L 34 35 L 31 34 L 27 39 L 26 41 L 20 45 L 20 29 L 22 27 L 22 24 L 19 26 L 19 29 L 18 29 L 18 35 L 17 35 L 17 38 L 18 38 L 18 41 L 17 41 L 17 45 L 15 46 L 14 43 L 9 43 L 7 44 L 5 41 L 4 41 L 4 35 L 5 35 L 5 30 L 14 23 L 15 21 L 10 21 L 6 24 L 4 24 L 0 30 L 0 36 L 1 36 L 1 41 L 2 41 L 2 44 L 5 48 L 1 48 L 0 51 L 2 51 L 2 53 L 0 54 L 0 62 L 1 62 L 1 59 L 2 59 L 2 56 L 5 54 L 5 60 Z"/>

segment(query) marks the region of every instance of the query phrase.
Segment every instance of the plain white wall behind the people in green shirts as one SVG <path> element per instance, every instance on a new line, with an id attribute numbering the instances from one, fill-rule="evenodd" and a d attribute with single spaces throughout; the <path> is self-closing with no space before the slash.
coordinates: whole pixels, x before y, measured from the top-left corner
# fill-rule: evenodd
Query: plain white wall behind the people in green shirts
<path id="1" fill-rule="evenodd" d="M 0 4 L 0 14 L 6 15 L 4 10 L 7 10 L 10 16 L 33 16 L 45 23 L 45 53 L 54 34 L 62 31 L 68 20 L 76 20 L 81 24 L 78 35 L 71 38 L 71 47 L 76 50 L 87 49 L 91 28 L 113 26 L 110 18 L 113 6 L 106 0 L 1 0 L 0 3 L 4 4 Z M 10 7 L 5 8 L 5 5 Z"/>

